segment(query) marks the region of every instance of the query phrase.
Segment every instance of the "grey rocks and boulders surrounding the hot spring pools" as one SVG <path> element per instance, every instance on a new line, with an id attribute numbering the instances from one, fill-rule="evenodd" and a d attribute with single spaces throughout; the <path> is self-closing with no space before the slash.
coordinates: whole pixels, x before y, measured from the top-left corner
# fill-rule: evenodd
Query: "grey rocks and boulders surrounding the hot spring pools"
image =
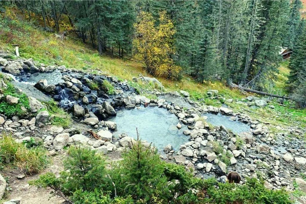
<path id="1" fill-rule="evenodd" d="M 66 145 L 74 142 L 88 145 L 103 154 L 131 148 L 135 140 L 125 134 L 120 135 L 118 139 L 114 138 L 112 132 L 116 130 L 117 125 L 107 119 L 115 116 L 119 109 L 157 106 L 177 116 L 178 129 L 182 124 L 187 125 L 189 129 L 184 131 L 184 135 L 190 137 L 189 142 L 182 144 L 178 151 L 174 151 L 171 144 L 166 146 L 164 159 L 185 165 L 186 169 L 193 169 L 195 176 L 219 177 L 229 171 L 236 171 L 241 174 L 242 183 L 246 177 L 262 177 L 268 188 L 285 187 L 292 190 L 293 178 L 306 172 L 304 141 L 289 140 L 288 132 L 271 134 L 267 124 L 254 121 L 248 115 L 235 113 L 226 107 L 201 106 L 190 100 L 186 91 L 158 91 L 155 93 L 158 99 L 150 100 L 138 95 L 136 89 L 126 80 L 67 69 L 64 65 L 45 66 L 32 59 L 10 61 L 0 58 L 0 69 L 3 73 L 14 76 L 17 81 L 13 84 L 16 84 L 18 92 L 26 92 L 23 91 L 24 84 L 35 87 L 30 91 L 32 95 L 28 95 L 30 110 L 27 110 L 27 114 L 22 118 L 1 115 L 0 129 L 12 132 L 20 142 L 29 141 L 32 137 L 36 142 L 43 143 L 50 154 L 62 151 Z M 60 79 L 56 78 L 57 83 L 50 83 L 46 79 L 41 79 L 33 85 L 25 83 L 36 73 L 52 74 L 54 71 L 61 73 L 57 75 L 61 76 Z M 4 80 L 0 80 L 0 83 L 1 88 L 6 87 Z M 99 88 L 96 88 L 96 85 Z M 211 90 L 207 94 L 213 97 L 216 93 Z M 71 112 L 73 125 L 76 127 L 64 129 L 52 125 L 50 121 L 54 116 L 45 110 L 46 107 L 40 102 L 43 101 L 41 98 L 53 98 L 60 107 Z M 13 96 L 6 96 L 5 100 L 10 104 L 18 103 L 18 98 Z M 248 98 L 248 101 L 250 105 L 265 105 L 265 101 L 259 99 Z M 224 126 L 212 127 L 205 122 L 205 113 L 221 113 L 228 116 L 229 120 L 248 124 L 250 132 L 235 134 Z M 94 130 L 101 140 L 95 139 L 89 130 Z M 299 133 L 298 130 L 292 131 Z M 150 145 L 146 141 L 142 142 Z M 304 180 L 298 181 L 304 184 Z"/>

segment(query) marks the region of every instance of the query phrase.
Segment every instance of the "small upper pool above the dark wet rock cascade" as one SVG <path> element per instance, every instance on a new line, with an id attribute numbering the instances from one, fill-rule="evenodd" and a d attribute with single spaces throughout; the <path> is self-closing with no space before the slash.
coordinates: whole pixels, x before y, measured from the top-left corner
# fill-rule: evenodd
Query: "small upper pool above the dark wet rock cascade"
<path id="1" fill-rule="evenodd" d="M 53 72 L 37 72 L 28 78 L 28 82 L 35 84 L 41 79 L 46 79 L 48 84 L 63 83 L 62 73 L 59 70 L 54 70 Z"/>

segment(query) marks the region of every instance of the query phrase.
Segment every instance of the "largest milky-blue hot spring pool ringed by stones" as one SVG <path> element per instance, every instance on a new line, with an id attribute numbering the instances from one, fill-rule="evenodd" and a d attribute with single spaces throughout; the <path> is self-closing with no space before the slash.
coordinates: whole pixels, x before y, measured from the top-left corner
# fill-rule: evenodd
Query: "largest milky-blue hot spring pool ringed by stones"
<path id="1" fill-rule="evenodd" d="M 159 151 L 168 144 L 171 144 L 174 150 L 178 150 L 180 145 L 189 141 L 189 136 L 183 134 L 183 131 L 188 129 L 187 126 L 182 124 L 182 128 L 178 130 L 176 127 L 178 119 L 174 114 L 164 108 L 140 107 L 140 109 L 119 110 L 116 117 L 109 119 L 117 123 L 115 137 L 126 133 L 137 139 L 136 128 L 138 128 L 140 138 L 152 142 Z"/>

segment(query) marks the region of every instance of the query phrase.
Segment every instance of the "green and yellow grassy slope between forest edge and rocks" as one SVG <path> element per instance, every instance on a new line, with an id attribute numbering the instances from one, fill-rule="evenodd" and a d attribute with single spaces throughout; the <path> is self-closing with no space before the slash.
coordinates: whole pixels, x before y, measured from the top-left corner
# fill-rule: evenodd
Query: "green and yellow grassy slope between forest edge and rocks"
<path id="1" fill-rule="evenodd" d="M 0 17 L 0 49 L 7 50 L 14 54 L 14 48 L 11 44 L 20 45 L 20 55 L 24 58 L 32 57 L 35 61 L 47 65 L 59 64 L 66 65 L 69 68 L 99 69 L 106 75 L 114 75 L 121 79 L 128 80 L 134 87 L 149 89 L 145 83 L 133 83 L 133 76 L 138 76 L 141 72 L 147 76 L 143 69 L 143 64 L 135 61 L 122 60 L 107 56 L 99 56 L 97 51 L 90 49 L 90 46 L 82 43 L 78 38 L 69 35 L 67 39 L 57 39 L 54 33 L 41 31 L 35 28 L 31 23 L 22 20 L 15 9 L 7 9 L 6 13 L 1 13 Z M 11 20 L 6 20 L 7 18 Z M 21 20 L 20 20 L 21 19 Z M 62 61 L 56 61 L 55 58 L 60 55 Z M 90 70 L 88 70 L 90 71 Z M 286 64 L 280 68 L 278 81 L 275 90 L 279 89 L 279 94 L 283 94 L 288 69 Z M 242 93 L 237 89 L 230 89 L 220 82 L 206 82 L 204 84 L 185 77 L 181 81 L 170 81 L 158 78 L 168 91 L 186 90 L 191 94 L 193 99 L 201 99 L 207 105 L 221 106 L 219 100 L 211 100 L 207 97 L 206 92 L 209 89 L 217 89 L 225 98 L 242 99 L 249 93 Z M 242 105 L 228 103 L 228 106 L 238 111 Z M 298 126 L 304 126 L 306 120 L 306 111 L 291 109 L 273 104 L 275 109 L 268 107 L 256 109 L 256 112 L 262 114 L 260 117 L 253 113 L 248 113 L 254 120 L 259 118 L 261 121 L 269 121 L 271 124 L 282 124 L 288 126 L 288 123 Z M 248 108 L 248 107 L 245 107 Z M 272 128 L 273 129 L 273 128 Z"/>

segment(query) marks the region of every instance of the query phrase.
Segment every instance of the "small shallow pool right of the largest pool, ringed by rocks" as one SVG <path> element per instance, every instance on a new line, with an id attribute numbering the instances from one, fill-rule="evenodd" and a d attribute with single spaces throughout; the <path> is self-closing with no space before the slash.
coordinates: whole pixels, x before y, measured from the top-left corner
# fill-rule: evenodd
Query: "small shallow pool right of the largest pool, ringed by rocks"
<path id="1" fill-rule="evenodd" d="M 232 130 L 233 133 L 241 133 L 241 132 L 249 132 L 250 126 L 247 124 L 244 124 L 239 121 L 232 121 L 230 120 L 230 117 L 226 115 L 222 115 L 221 113 L 215 114 L 202 114 L 202 116 L 207 116 L 207 122 L 215 125 L 220 126 L 224 125 L 226 129 Z"/>

